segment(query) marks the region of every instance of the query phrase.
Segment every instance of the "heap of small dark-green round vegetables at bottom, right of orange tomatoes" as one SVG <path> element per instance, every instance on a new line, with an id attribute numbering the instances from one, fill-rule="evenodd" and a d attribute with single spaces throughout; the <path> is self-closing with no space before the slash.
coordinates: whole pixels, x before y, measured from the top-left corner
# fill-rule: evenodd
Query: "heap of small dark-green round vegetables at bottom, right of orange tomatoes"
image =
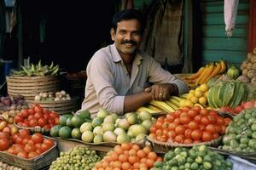
<path id="1" fill-rule="evenodd" d="M 208 150 L 206 145 L 194 146 L 192 149 L 177 147 L 166 153 L 163 162 L 156 162 L 151 168 L 151 170 L 162 169 L 231 170 L 232 163 L 225 161 L 224 156 Z"/>

